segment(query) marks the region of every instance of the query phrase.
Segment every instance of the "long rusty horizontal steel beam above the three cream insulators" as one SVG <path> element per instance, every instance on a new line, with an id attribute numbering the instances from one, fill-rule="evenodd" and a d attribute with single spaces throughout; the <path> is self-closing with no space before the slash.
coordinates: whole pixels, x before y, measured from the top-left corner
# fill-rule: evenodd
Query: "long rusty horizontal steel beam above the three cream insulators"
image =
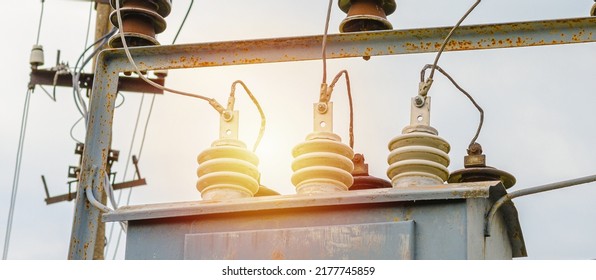
<path id="1" fill-rule="evenodd" d="M 436 52 L 451 27 L 329 35 L 327 58 Z M 131 48 L 141 70 L 321 59 L 322 36 Z M 596 41 L 596 17 L 462 26 L 445 51 L 547 46 Z M 115 71 L 133 71 L 121 49 L 103 57 Z"/>

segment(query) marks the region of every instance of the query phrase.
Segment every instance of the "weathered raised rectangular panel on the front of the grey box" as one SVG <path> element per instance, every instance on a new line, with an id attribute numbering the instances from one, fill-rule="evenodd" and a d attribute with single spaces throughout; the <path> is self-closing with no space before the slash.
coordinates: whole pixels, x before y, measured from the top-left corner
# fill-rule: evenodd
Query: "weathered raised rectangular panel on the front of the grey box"
<path id="1" fill-rule="evenodd" d="M 187 234 L 185 259 L 387 259 L 414 257 L 413 221 Z"/>

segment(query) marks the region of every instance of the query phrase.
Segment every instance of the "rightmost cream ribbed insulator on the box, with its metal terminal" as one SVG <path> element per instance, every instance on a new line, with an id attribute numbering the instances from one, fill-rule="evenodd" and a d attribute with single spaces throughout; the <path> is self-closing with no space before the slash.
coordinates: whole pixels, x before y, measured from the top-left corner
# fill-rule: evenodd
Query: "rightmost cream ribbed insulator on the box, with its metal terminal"
<path id="1" fill-rule="evenodd" d="M 423 101 L 412 106 L 410 126 L 389 142 L 387 176 L 394 188 L 442 185 L 449 177 L 449 143 L 429 126 L 430 97 Z"/>

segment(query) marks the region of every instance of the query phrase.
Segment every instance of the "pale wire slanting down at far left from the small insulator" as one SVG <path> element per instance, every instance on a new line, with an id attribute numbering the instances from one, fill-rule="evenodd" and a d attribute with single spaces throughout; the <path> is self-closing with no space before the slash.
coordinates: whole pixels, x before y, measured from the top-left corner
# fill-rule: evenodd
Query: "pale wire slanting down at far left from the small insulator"
<path id="1" fill-rule="evenodd" d="M 10 234 L 12 232 L 12 221 L 17 201 L 17 192 L 19 190 L 19 177 L 21 174 L 21 163 L 23 161 L 23 146 L 25 145 L 25 138 L 27 131 L 27 120 L 29 119 L 29 104 L 31 103 L 32 90 L 27 90 L 25 96 L 25 105 L 23 108 L 23 116 L 21 117 L 21 131 L 19 134 L 19 145 L 17 148 L 17 159 L 14 168 L 14 177 L 12 179 L 12 193 L 10 195 L 10 207 L 8 210 L 8 221 L 6 223 L 6 234 L 4 236 L 4 250 L 2 252 L 2 259 L 6 260 L 8 256 L 8 248 L 10 246 Z"/>

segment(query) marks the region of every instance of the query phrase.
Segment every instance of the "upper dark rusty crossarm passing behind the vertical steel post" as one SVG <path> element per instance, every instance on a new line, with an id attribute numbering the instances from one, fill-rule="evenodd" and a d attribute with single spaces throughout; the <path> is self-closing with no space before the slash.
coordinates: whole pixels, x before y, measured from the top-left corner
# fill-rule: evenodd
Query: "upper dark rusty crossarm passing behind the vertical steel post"
<path id="1" fill-rule="evenodd" d="M 60 87 L 72 87 L 72 74 L 65 73 L 56 76 L 56 70 L 48 69 L 31 69 L 29 80 L 29 86 L 35 85 L 47 85 L 54 86 L 54 77 L 56 77 L 55 86 Z M 150 79 L 160 85 L 164 85 L 165 80 L 163 78 Z M 93 74 L 81 73 L 79 79 L 81 88 L 91 89 L 93 87 Z M 139 93 L 153 93 L 163 94 L 161 89 L 155 88 L 140 78 L 133 77 L 120 77 L 118 79 L 118 90 L 126 92 L 139 92 Z"/>

